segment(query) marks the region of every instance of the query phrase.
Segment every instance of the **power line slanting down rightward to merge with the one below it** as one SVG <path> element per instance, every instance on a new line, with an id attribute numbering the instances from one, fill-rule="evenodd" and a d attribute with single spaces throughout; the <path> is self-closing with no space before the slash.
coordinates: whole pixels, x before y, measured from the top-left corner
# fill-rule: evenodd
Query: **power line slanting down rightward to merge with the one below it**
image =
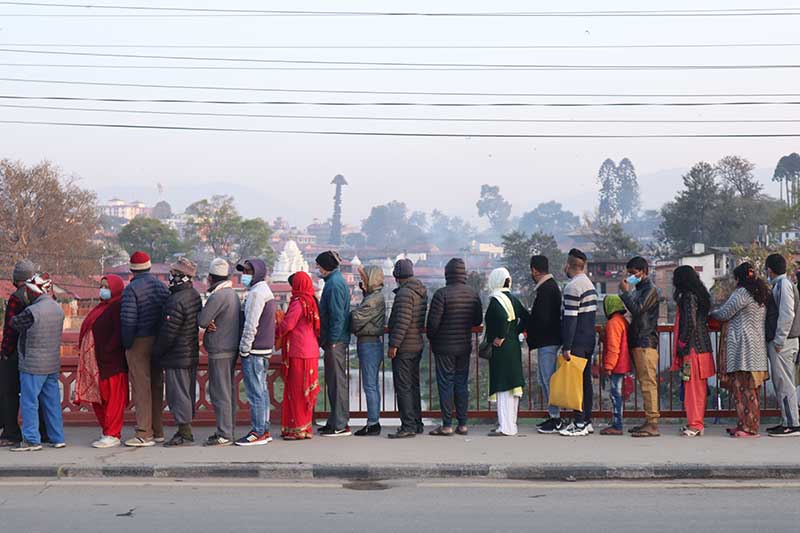
<path id="1" fill-rule="evenodd" d="M 478 68 L 478 69 L 530 69 L 530 70 L 731 70 L 731 69 L 782 69 L 800 68 L 791 64 L 764 65 L 565 65 L 565 64 L 514 64 L 514 63 L 412 63 L 404 61 L 328 61 L 315 59 L 262 59 L 250 57 L 198 57 L 154 54 L 118 54 L 103 52 L 63 52 L 58 50 L 18 50 L 0 48 L 0 52 L 81 57 L 114 57 L 125 59 L 167 59 L 175 61 L 215 61 L 228 63 L 268 63 L 273 65 L 329 65 L 369 67 L 423 67 L 423 68 Z"/>

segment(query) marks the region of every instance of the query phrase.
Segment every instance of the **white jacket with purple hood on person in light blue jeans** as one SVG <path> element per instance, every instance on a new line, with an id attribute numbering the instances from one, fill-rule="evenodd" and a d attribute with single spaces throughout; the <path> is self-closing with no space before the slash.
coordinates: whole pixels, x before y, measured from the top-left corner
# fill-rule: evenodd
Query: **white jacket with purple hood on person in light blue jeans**
<path id="1" fill-rule="evenodd" d="M 269 356 L 275 348 L 275 297 L 266 282 L 267 265 L 264 261 L 248 259 L 247 262 L 253 267 L 253 281 L 244 301 L 239 353 Z"/>

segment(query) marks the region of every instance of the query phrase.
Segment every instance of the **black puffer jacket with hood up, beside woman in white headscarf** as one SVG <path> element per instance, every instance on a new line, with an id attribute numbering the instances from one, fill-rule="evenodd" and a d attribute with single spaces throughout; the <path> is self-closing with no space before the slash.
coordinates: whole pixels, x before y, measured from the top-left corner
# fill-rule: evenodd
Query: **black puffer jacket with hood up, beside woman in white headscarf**
<path id="1" fill-rule="evenodd" d="M 428 311 L 428 339 L 435 354 L 465 356 L 472 352 L 472 328 L 483 321 L 480 296 L 467 285 L 467 268 L 459 258 L 444 269 L 447 285 L 433 294 Z"/>

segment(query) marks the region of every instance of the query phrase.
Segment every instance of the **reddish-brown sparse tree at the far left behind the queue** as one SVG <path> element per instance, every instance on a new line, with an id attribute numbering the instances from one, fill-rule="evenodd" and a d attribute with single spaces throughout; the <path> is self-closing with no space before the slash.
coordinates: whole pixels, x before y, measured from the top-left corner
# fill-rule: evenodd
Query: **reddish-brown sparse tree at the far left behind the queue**
<path id="1" fill-rule="evenodd" d="M 0 160 L 0 265 L 29 258 L 43 269 L 92 274 L 101 269 L 97 198 L 48 161 Z"/>

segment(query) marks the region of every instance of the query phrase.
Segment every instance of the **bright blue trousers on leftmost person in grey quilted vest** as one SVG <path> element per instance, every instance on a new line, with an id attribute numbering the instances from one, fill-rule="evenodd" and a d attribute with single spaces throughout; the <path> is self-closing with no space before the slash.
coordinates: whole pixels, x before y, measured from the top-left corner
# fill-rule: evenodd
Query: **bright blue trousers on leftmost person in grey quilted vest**
<path id="1" fill-rule="evenodd" d="M 22 438 L 29 444 L 41 444 L 39 433 L 39 405 L 44 414 L 47 435 L 53 444 L 64 442 L 64 422 L 61 418 L 61 393 L 58 390 L 58 372 L 39 376 L 19 373 L 20 412 L 22 413 Z"/>

